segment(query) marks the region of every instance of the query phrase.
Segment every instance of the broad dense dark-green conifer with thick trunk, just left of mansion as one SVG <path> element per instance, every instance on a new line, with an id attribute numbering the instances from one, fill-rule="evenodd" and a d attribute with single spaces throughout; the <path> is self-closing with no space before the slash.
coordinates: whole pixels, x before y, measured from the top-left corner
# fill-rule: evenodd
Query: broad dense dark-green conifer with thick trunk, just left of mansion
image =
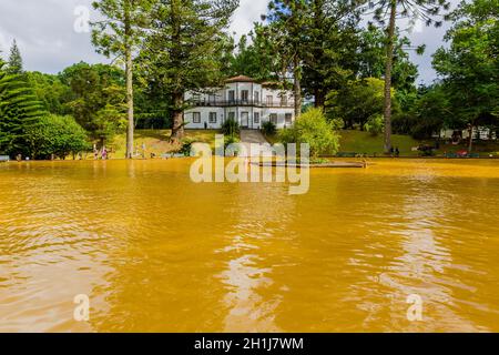
<path id="1" fill-rule="evenodd" d="M 141 62 L 172 104 L 174 141 L 184 135 L 185 92 L 221 83 L 223 30 L 237 6 L 238 0 L 157 0 L 153 7 Z"/>

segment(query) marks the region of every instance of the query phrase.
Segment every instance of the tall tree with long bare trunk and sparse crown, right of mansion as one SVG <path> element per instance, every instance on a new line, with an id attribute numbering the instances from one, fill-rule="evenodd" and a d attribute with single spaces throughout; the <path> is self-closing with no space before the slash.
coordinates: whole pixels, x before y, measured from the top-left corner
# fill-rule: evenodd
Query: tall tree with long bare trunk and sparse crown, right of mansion
<path id="1" fill-rule="evenodd" d="M 438 19 L 441 9 L 449 9 L 447 0 L 369 0 L 368 9 L 375 11 L 375 19 L 386 26 L 386 65 L 385 65 L 385 152 L 391 150 L 391 71 L 397 19 L 424 21 L 427 26 L 441 26 Z M 437 20 L 436 20 L 437 18 Z M 388 23 L 387 23 L 388 22 Z"/>

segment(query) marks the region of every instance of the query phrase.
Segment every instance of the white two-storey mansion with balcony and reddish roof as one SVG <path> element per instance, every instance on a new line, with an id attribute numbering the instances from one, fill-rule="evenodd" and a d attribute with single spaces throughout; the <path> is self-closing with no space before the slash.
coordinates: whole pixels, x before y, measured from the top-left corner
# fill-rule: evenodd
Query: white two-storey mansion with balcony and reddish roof
<path id="1" fill-rule="evenodd" d="M 220 129 L 227 119 L 234 119 L 243 129 L 257 130 L 266 121 L 282 129 L 295 120 L 291 91 L 244 75 L 226 80 L 224 88 L 207 94 L 186 93 L 185 100 L 191 105 L 184 112 L 186 129 Z"/>

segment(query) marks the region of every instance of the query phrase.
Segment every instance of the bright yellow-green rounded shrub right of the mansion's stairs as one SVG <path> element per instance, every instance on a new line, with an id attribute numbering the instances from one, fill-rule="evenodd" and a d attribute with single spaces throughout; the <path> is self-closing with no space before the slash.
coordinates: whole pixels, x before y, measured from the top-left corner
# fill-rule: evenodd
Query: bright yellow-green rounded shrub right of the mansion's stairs
<path id="1" fill-rule="evenodd" d="M 335 123 L 326 120 L 322 109 L 314 108 L 302 114 L 292 128 L 279 132 L 279 139 L 284 144 L 308 143 L 313 160 L 319 154 L 336 154 L 339 149 Z"/>

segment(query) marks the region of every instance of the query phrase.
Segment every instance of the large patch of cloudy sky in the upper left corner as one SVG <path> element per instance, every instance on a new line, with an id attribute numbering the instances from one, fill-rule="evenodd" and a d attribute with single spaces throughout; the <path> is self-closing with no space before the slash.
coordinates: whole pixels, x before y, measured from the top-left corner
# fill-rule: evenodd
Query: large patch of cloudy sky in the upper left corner
<path id="1" fill-rule="evenodd" d="M 0 44 L 8 55 L 16 39 L 24 68 L 59 72 L 81 60 L 105 61 L 90 43 L 89 33 L 74 31 L 74 9 L 92 0 L 1 0 Z"/>

